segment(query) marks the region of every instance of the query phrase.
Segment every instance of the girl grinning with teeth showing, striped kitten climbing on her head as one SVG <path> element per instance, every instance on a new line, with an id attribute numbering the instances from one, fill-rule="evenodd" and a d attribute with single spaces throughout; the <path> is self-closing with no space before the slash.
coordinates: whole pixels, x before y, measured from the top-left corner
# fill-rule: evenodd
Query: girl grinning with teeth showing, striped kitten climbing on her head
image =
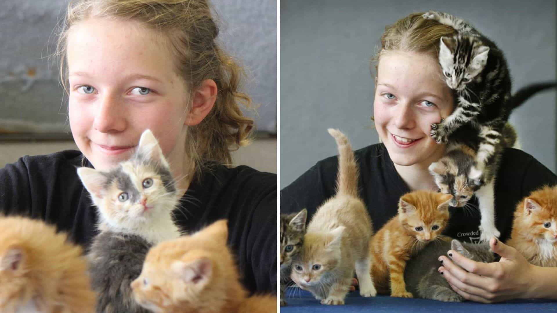
<path id="1" fill-rule="evenodd" d="M 445 146 L 431 138 L 430 125 L 455 109 L 455 99 L 443 80 L 437 52 L 440 38 L 453 35 L 455 30 L 426 20 L 422 14 L 410 14 L 387 26 L 374 58 L 377 72 L 374 123 L 382 143 L 356 150 L 355 154 L 360 167 L 360 195 L 377 229 L 397 213 L 401 195 L 418 189 L 437 190 L 428 167 L 444 154 Z M 336 157 L 321 160 L 282 189 L 281 211 L 307 208 L 308 215 L 314 213 L 317 206 L 334 194 L 337 167 Z M 501 239 L 505 240 L 510 235 L 516 203 L 544 184 L 557 183 L 557 177 L 529 154 L 507 149 L 495 181 L 496 225 Z M 475 198 L 469 203 L 477 206 Z M 451 208 L 450 212 L 444 234 L 477 241 L 479 213 L 461 208 Z M 507 260 L 481 265 L 452 252 L 454 261 L 466 265 L 470 273 L 454 266 L 444 256 L 439 271 L 455 286 L 455 291 L 470 300 L 557 297 L 555 291 L 548 294 L 551 288 L 545 288 L 545 292 L 525 292 L 549 286 L 551 277 L 557 277 L 557 268 L 547 270 L 551 275 L 545 269 L 534 270 L 524 257 L 502 243 L 492 241 L 492 250 Z M 541 276 L 541 272 L 546 276 Z M 529 275 L 540 278 L 525 280 Z"/>

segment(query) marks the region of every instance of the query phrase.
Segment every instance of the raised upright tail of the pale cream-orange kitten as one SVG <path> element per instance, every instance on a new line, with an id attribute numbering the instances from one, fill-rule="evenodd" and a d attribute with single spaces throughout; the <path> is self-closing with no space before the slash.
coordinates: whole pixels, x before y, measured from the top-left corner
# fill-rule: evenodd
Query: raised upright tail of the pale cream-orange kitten
<path id="1" fill-rule="evenodd" d="M 354 151 L 346 135 L 338 129 L 329 128 L 329 134 L 335 138 L 339 149 L 339 172 L 336 178 L 338 194 L 358 197 L 358 164 L 354 159 Z"/>

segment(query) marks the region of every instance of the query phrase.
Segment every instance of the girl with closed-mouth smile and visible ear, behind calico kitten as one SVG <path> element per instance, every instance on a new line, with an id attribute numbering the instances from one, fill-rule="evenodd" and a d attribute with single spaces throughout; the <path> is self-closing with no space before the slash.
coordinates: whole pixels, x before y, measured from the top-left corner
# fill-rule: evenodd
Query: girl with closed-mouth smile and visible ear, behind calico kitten
<path id="1" fill-rule="evenodd" d="M 89 246 L 96 210 L 76 167 L 114 167 L 151 129 L 184 190 L 179 227 L 228 219 L 246 287 L 275 291 L 276 175 L 226 166 L 253 121 L 240 111 L 250 104 L 238 91 L 242 69 L 218 31 L 206 0 L 71 2 L 57 46 L 80 151 L 0 169 L 0 212 L 43 219 Z"/>

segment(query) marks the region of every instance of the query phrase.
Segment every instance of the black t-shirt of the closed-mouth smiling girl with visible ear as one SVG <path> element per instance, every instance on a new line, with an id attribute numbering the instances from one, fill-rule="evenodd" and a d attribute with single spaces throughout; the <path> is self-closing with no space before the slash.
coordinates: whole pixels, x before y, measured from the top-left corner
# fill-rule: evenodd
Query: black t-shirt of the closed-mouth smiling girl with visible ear
<path id="1" fill-rule="evenodd" d="M 55 224 L 87 249 L 95 236 L 97 210 L 77 176 L 80 151 L 24 156 L 0 169 L 0 212 Z M 92 167 L 85 160 L 85 166 Z M 244 165 L 207 164 L 175 214 L 185 231 L 228 219 L 228 245 L 251 292 L 276 292 L 276 174 Z"/>

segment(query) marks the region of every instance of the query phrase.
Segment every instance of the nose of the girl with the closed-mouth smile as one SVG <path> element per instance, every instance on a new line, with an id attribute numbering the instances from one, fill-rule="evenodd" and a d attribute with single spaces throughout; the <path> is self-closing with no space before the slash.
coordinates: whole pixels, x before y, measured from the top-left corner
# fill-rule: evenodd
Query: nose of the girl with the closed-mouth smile
<path id="1" fill-rule="evenodd" d="M 118 133 L 126 128 L 123 105 L 111 95 L 99 99 L 93 127 L 101 133 Z"/>

